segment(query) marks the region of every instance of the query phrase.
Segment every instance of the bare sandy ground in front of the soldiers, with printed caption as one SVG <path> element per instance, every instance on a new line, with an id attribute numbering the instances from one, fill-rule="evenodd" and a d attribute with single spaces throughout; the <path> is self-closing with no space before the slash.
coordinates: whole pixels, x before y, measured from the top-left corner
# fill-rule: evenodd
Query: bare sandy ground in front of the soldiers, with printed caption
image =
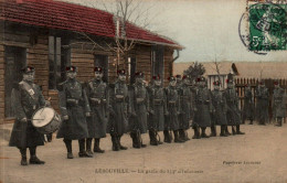
<path id="1" fill-rule="evenodd" d="M 219 128 L 217 128 L 219 131 Z M 64 143 L 53 139 L 38 149 L 44 165 L 20 165 L 15 148 L 1 142 L 1 183 L 287 183 L 287 123 L 278 128 L 243 125 L 245 136 L 190 140 L 159 147 L 132 149 L 129 136 L 123 138 L 127 151 L 111 151 L 110 138 L 102 140 L 104 154 L 67 160 Z M 193 134 L 189 130 L 189 134 Z M 162 139 L 162 136 L 161 136 Z M 144 134 L 144 142 L 148 136 Z"/>

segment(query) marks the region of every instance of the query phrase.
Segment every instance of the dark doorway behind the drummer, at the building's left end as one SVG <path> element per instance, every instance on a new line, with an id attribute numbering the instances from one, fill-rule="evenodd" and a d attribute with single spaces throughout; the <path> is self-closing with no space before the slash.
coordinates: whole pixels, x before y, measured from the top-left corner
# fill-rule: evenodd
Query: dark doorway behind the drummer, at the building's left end
<path id="1" fill-rule="evenodd" d="M 14 117 L 11 105 L 11 92 L 13 84 L 22 79 L 21 68 L 26 65 L 26 50 L 23 47 L 6 46 L 4 47 L 4 116 L 6 118 Z"/>

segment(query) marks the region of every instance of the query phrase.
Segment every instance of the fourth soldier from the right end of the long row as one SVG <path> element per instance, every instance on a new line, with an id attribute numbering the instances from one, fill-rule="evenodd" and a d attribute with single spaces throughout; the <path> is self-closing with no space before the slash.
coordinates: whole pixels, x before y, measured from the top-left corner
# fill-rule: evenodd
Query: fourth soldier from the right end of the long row
<path id="1" fill-rule="evenodd" d="M 190 78 L 184 75 L 182 77 L 181 86 L 179 87 L 179 97 L 180 97 L 180 108 L 181 114 L 179 115 L 179 134 L 180 139 L 188 141 L 190 140 L 188 137 L 188 129 L 190 128 L 191 120 L 191 105 L 192 105 L 192 93 L 190 89 Z"/>

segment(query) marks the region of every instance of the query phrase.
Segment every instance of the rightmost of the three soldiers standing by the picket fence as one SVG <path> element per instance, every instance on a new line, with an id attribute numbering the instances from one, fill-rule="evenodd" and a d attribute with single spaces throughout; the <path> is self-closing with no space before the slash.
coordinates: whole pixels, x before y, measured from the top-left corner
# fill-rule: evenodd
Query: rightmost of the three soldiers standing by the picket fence
<path id="1" fill-rule="evenodd" d="M 273 116 L 276 120 L 277 127 L 281 127 L 285 111 L 286 111 L 286 101 L 285 101 L 285 90 L 279 86 L 278 82 L 274 82 L 274 94 L 273 94 Z"/>

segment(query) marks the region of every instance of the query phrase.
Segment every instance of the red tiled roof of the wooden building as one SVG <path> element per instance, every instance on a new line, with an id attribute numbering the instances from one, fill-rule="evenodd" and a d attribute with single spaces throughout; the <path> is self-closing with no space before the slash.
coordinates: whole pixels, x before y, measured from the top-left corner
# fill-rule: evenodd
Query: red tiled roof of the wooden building
<path id="1" fill-rule="evenodd" d="M 0 20 L 115 37 L 111 13 L 56 0 L 0 0 Z M 126 23 L 129 40 L 182 49 L 174 41 Z"/>

